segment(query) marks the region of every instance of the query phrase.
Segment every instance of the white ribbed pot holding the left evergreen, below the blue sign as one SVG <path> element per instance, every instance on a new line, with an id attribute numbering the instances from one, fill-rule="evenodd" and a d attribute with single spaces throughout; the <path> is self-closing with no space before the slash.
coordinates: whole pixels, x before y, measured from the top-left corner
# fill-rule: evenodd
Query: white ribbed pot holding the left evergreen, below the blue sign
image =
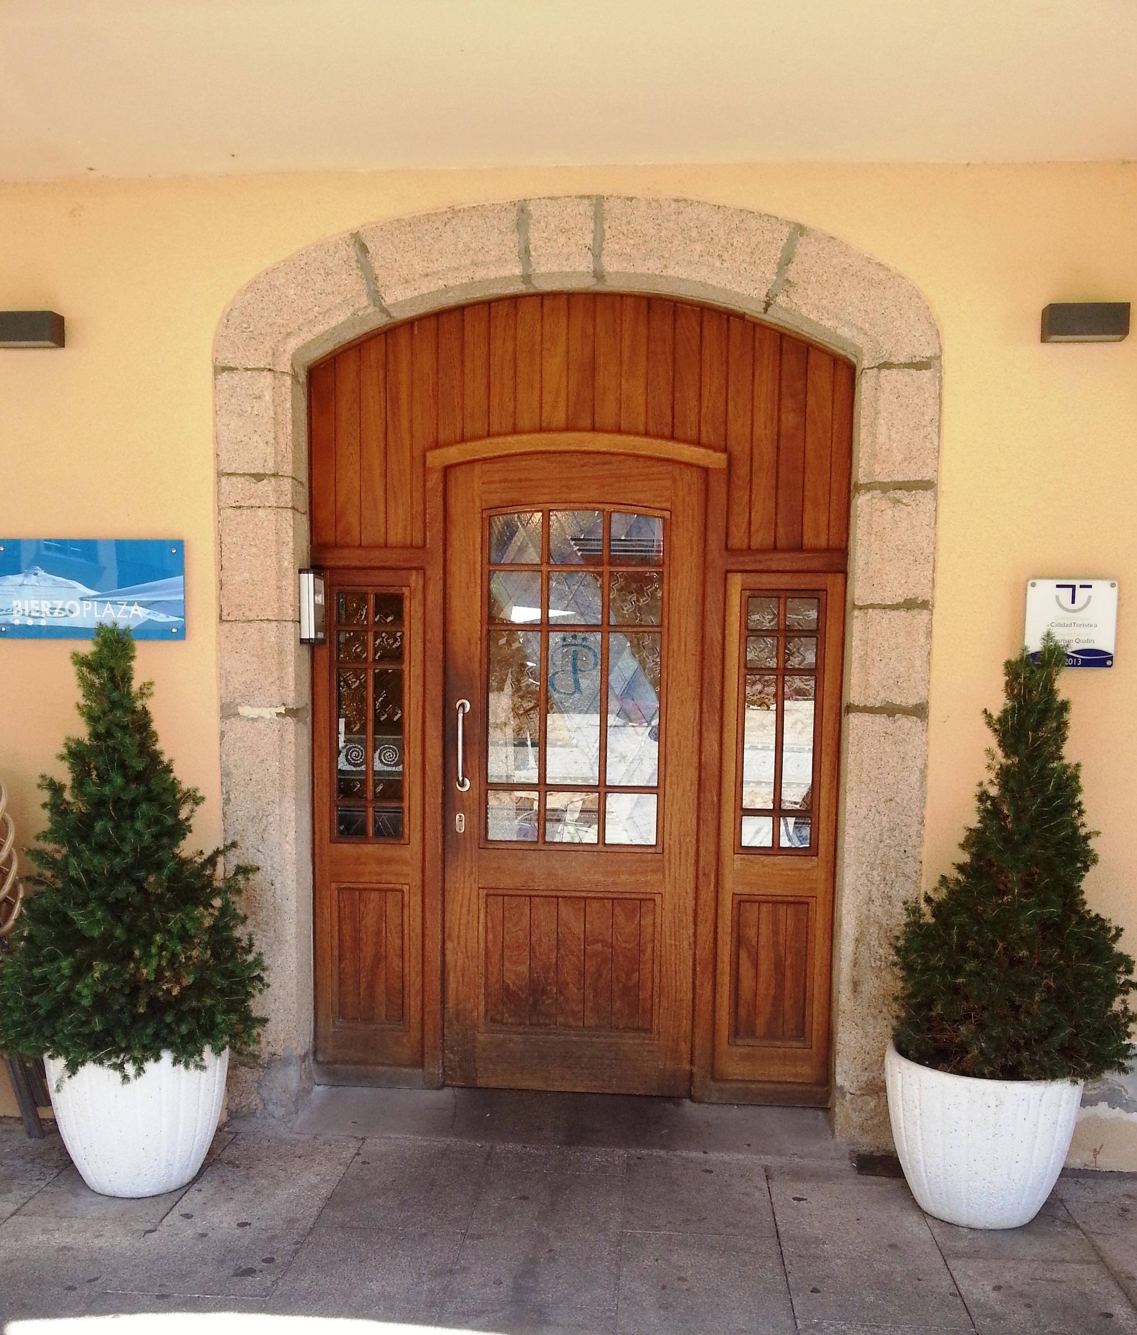
<path id="1" fill-rule="evenodd" d="M 192 1180 L 220 1117 L 228 1051 L 206 1052 L 204 1063 L 187 1071 L 163 1052 L 123 1084 L 106 1067 L 68 1076 L 63 1061 L 44 1059 L 59 1133 L 92 1191 L 159 1196 Z"/>

